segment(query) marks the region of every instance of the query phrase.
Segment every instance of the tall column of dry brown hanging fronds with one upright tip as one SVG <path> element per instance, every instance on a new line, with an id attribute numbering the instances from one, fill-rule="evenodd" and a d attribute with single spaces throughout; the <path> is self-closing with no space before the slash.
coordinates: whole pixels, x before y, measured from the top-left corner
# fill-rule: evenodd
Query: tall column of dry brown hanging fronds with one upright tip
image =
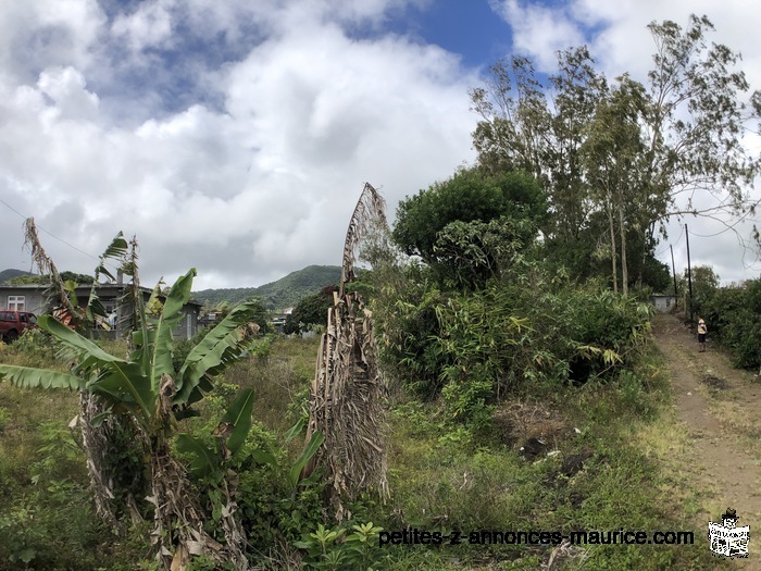
<path id="1" fill-rule="evenodd" d="M 386 385 L 377 365 L 373 319 L 359 293 L 346 290 L 355 278 L 355 252 L 365 231 L 372 224 L 386 226 L 384 208 L 383 198 L 365 184 L 349 223 L 339 290 L 328 310 L 312 385 L 307 440 L 320 431 L 325 442 L 302 475 L 317 467 L 325 470 L 338 521 L 348 516 L 344 499 L 371 487 L 385 495 L 388 487 L 383 433 Z"/>

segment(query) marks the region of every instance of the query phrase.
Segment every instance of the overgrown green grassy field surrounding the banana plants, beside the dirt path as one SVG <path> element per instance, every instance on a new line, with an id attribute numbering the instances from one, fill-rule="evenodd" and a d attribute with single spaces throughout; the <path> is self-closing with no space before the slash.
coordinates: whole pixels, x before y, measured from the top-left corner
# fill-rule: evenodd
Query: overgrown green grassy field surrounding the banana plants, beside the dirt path
<path id="1" fill-rule="evenodd" d="M 279 435 L 291 457 L 301 443 L 286 444 L 282 435 L 304 413 L 317 346 L 316 339 L 275 340 L 224 378 L 254 389 L 257 425 Z M 51 357 L 21 345 L 0 351 L 2 362 L 14 364 L 45 365 Z M 688 444 L 670 402 L 654 355 L 608 385 L 513 395 L 494 426 L 478 434 L 445 418 L 436 402 L 391 392 L 391 496 L 358 500 L 351 523 L 464 534 L 459 545 L 373 545 L 375 569 L 528 570 L 550 561 L 556 570 L 715 569 L 703 530 L 688 523 L 698 492 L 681 485 L 678 460 Z M 76 410 L 75 394 L 0 384 L 0 569 L 152 568 L 144 529 L 110 536 L 92 513 L 84 457 L 67 429 Z M 314 513 L 302 531 L 314 532 L 321 521 L 329 527 Z M 467 535 L 622 527 L 693 531 L 695 545 L 483 545 Z M 298 569 L 298 551 L 284 546 L 260 557 L 273 569 Z"/>

